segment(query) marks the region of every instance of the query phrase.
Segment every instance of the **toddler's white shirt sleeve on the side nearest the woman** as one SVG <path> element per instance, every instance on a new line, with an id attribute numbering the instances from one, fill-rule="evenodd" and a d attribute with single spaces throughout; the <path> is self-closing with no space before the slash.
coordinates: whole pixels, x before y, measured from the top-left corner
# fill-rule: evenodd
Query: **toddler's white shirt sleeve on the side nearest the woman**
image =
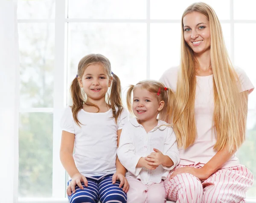
<path id="1" fill-rule="evenodd" d="M 170 157 L 170 159 L 172 159 L 173 165 L 171 167 L 166 167 L 163 165 L 162 166 L 166 170 L 172 170 L 180 162 L 180 154 L 177 147 L 176 135 L 173 129 L 172 128 L 166 128 L 166 129 L 168 129 L 168 134 L 166 136 L 166 140 L 164 143 L 163 154 L 167 155 L 168 157 Z"/>

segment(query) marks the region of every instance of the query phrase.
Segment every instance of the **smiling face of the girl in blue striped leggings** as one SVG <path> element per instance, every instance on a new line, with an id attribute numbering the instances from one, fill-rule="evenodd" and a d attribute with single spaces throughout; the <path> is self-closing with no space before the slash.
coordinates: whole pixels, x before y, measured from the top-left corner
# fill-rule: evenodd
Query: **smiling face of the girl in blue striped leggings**
<path id="1" fill-rule="evenodd" d="M 111 86 L 112 78 L 108 77 L 102 64 L 91 64 L 85 70 L 83 76 L 78 78 L 79 86 L 83 88 L 87 99 L 99 100 L 104 98 Z"/>

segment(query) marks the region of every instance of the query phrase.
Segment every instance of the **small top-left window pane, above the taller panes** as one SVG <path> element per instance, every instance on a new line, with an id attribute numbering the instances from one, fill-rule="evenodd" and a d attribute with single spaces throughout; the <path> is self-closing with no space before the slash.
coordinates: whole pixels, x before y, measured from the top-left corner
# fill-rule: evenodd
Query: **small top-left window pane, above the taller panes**
<path id="1" fill-rule="evenodd" d="M 49 19 L 55 17 L 55 0 L 18 0 L 18 19 Z"/>

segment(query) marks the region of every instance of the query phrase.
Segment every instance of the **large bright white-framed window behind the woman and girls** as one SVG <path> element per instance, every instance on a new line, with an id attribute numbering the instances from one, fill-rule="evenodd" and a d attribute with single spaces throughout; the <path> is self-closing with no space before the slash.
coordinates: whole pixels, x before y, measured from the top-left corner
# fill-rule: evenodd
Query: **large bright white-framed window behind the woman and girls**
<path id="1" fill-rule="evenodd" d="M 59 161 L 62 109 L 79 60 L 107 56 L 122 87 L 159 79 L 180 59 L 180 19 L 195 0 L 19 0 L 20 197 L 65 197 Z M 252 0 L 205 0 L 215 9 L 233 63 L 256 85 Z M 221 6 L 220 6 L 221 5 Z M 256 90 L 249 96 L 247 140 L 238 152 L 256 175 Z M 38 190 L 40 185 L 40 190 Z M 247 192 L 256 198 L 256 185 Z"/>

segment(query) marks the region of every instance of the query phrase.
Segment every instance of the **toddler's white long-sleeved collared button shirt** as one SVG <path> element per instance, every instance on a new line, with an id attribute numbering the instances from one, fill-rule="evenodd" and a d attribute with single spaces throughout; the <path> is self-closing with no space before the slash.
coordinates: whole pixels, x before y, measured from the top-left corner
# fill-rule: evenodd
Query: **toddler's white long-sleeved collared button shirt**
<path id="1" fill-rule="evenodd" d="M 125 123 L 122 129 L 117 156 L 122 165 L 128 170 L 126 176 L 140 179 L 144 184 L 160 183 L 166 179 L 170 170 L 180 161 L 176 136 L 172 127 L 159 120 L 155 128 L 148 133 L 136 118 Z M 153 148 L 170 157 L 174 163 L 171 167 L 159 165 L 155 170 L 136 168 L 141 157 L 147 157 Z"/>

